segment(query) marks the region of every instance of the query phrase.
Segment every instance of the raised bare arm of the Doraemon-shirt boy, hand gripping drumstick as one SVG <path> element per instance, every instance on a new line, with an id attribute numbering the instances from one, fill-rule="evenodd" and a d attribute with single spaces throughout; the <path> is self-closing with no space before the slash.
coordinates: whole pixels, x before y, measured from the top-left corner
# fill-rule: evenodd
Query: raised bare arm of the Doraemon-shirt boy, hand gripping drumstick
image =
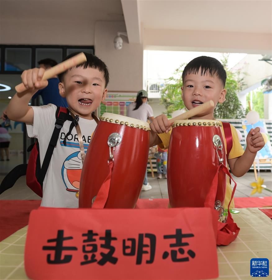
<path id="1" fill-rule="evenodd" d="M 22 75 L 22 82 L 27 88 L 26 91 L 17 93 L 12 97 L 7 106 L 7 116 L 9 119 L 33 124 L 34 112 L 28 106 L 29 100 L 39 90 L 48 85 L 48 81 L 42 81 L 44 69 L 34 68 L 25 70 Z"/>

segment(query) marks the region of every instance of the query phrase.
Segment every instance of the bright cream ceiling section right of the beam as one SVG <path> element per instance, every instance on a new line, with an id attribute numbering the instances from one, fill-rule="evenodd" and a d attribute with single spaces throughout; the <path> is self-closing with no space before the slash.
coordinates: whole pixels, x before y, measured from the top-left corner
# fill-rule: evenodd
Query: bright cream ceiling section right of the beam
<path id="1" fill-rule="evenodd" d="M 126 0 L 127 1 L 127 0 Z M 141 0 L 144 28 L 271 33 L 270 0 Z"/>

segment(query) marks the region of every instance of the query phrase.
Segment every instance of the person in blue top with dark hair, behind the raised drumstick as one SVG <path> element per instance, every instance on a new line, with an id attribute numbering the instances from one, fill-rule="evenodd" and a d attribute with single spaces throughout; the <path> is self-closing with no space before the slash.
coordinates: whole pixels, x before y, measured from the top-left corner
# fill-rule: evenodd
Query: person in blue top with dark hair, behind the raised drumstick
<path id="1" fill-rule="evenodd" d="M 57 65 L 57 62 L 51 58 L 45 58 L 38 62 L 40 68 L 48 70 Z M 57 76 L 48 80 L 48 86 L 37 91 L 32 98 L 42 97 L 43 105 L 54 104 L 60 107 L 68 107 L 66 98 L 59 94 L 59 79 Z"/>

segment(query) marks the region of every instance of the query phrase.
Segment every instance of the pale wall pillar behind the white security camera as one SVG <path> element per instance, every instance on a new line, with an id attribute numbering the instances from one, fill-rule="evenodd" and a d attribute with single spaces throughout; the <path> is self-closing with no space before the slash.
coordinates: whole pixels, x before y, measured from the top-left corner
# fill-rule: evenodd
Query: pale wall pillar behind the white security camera
<path id="1" fill-rule="evenodd" d="M 97 21 L 95 25 L 95 54 L 108 66 L 111 91 L 139 91 L 143 88 L 143 46 L 128 44 L 116 50 L 113 40 L 117 31 L 125 31 L 124 21 Z"/>

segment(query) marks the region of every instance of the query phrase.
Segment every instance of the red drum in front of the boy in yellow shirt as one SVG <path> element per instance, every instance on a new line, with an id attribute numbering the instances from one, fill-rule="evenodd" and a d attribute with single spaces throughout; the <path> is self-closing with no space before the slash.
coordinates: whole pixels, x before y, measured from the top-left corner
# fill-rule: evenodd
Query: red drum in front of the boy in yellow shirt
<path id="1" fill-rule="evenodd" d="M 204 207 L 219 165 L 226 165 L 221 127 L 220 122 L 204 119 L 179 120 L 172 125 L 167 160 L 171 207 Z M 223 205 L 226 190 L 226 175 L 221 171 L 216 209 Z"/>

